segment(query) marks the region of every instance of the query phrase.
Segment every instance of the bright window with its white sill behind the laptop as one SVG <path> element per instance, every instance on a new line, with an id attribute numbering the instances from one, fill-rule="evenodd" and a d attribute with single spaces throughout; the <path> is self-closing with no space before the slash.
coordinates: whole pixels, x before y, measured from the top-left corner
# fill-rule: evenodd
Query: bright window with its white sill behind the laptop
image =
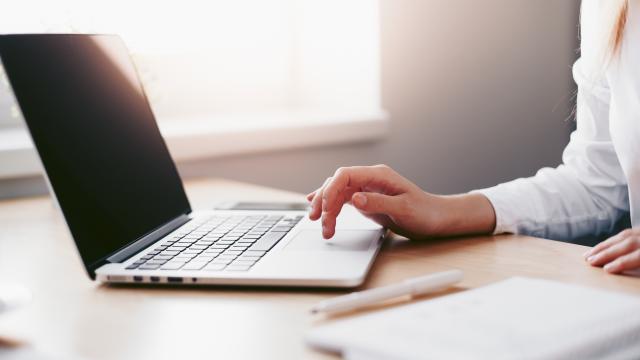
<path id="1" fill-rule="evenodd" d="M 0 32 L 121 35 L 183 159 L 380 136 L 377 11 L 373 0 L 21 0 Z M 0 163 L 3 137 L 4 150 L 28 141 L 2 82 Z"/>

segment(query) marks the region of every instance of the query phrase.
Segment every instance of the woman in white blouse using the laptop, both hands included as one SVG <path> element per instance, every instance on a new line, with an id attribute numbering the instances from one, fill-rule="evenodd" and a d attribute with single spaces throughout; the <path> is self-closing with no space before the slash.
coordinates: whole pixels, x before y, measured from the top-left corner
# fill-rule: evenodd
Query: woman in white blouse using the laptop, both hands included
<path id="1" fill-rule="evenodd" d="M 516 233 L 572 240 L 624 230 L 585 254 L 610 273 L 640 268 L 640 0 L 584 0 L 577 129 L 563 164 L 468 194 L 421 190 L 384 165 L 340 168 L 307 196 L 331 238 L 344 203 L 410 238 Z"/>

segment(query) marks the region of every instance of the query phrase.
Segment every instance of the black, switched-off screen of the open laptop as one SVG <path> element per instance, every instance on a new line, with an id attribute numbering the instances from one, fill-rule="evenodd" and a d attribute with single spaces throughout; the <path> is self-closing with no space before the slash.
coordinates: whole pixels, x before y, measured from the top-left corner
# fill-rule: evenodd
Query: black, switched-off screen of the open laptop
<path id="1" fill-rule="evenodd" d="M 191 211 L 117 36 L 0 36 L 0 58 L 90 274 Z"/>

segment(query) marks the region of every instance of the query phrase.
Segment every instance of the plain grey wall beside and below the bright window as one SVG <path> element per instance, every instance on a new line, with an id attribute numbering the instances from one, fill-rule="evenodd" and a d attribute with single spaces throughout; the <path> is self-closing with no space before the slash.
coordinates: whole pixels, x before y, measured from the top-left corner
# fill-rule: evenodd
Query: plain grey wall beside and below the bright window
<path id="1" fill-rule="evenodd" d="M 578 3 L 381 0 L 382 99 L 392 121 L 385 140 L 180 171 L 304 192 L 338 166 L 387 163 L 426 190 L 454 193 L 554 166 L 573 127 Z M 43 189 L 35 180 L 4 187 Z"/>

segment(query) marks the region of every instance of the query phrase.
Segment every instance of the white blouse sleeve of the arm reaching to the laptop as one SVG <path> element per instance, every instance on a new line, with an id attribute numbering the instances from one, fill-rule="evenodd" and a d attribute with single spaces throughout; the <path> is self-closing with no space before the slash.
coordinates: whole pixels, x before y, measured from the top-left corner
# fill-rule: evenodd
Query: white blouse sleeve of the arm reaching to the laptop
<path id="1" fill-rule="evenodd" d="M 526 234 L 558 240 L 604 235 L 629 211 L 627 184 L 609 134 L 609 87 L 594 76 L 589 59 L 594 24 L 582 20 L 582 58 L 573 66 L 578 85 L 577 129 L 562 165 L 543 168 L 530 178 L 475 190 L 496 212 L 495 233 Z"/>

